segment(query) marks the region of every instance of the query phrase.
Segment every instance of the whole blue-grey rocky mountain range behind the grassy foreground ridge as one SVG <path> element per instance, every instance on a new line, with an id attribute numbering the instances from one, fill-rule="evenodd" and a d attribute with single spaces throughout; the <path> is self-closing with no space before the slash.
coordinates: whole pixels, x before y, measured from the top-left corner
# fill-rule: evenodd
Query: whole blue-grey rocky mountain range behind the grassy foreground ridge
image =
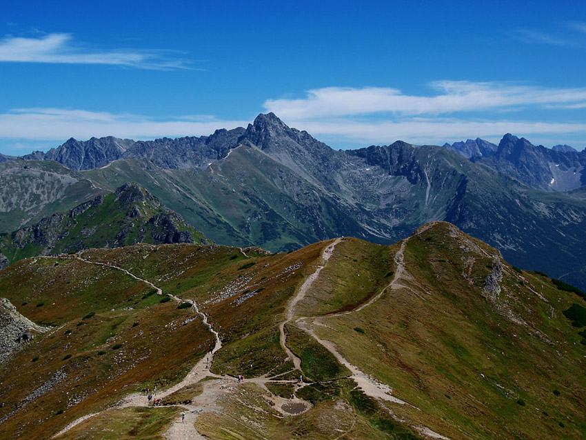
<path id="1" fill-rule="evenodd" d="M 498 146 L 445 147 L 396 141 L 336 151 L 269 113 L 209 137 L 70 139 L 46 154 L 101 190 L 139 183 L 216 243 L 289 251 L 352 236 L 385 244 L 445 220 L 516 266 L 586 288 L 585 153 L 511 135 Z"/>

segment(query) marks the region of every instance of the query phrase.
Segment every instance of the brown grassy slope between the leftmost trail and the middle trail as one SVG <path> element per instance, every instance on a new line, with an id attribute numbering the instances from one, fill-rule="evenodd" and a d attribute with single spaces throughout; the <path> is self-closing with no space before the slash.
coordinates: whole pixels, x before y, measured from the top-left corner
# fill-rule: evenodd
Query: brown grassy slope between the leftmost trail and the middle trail
<path id="1" fill-rule="evenodd" d="M 84 252 L 149 279 L 163 292 L 195 299 L 210 315 L 224 344 L 214 372 L 256 376 L 275 372 L 285 359 L 279 323 L 285 304 L 319 263 L 330 241 L 287 254 L 196 245 L 139 245 Z M 252 368 L 250 363 L 252 362 Z"/>

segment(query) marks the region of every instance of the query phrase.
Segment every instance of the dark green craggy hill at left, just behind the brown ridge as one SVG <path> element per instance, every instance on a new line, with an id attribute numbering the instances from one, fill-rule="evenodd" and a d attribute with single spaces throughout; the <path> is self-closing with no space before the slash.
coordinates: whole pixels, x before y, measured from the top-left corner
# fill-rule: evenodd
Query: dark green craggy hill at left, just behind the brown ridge
<path id="1" fill-rule="evenodd" d="M 0 237 L 0 254 L 10 263 L 34 255 L 112 248 L 136 243 L 205 243 L 179 214 L 135 183 L 99 195 L 65 214 Z"/>

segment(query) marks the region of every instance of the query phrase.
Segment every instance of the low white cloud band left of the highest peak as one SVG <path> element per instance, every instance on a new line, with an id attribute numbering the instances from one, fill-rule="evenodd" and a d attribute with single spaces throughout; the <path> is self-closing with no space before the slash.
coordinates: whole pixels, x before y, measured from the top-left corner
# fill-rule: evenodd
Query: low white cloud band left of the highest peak
<path id="1" fill-rule="evenodd" d="M 205 115 L 152 119 L 59 108 L 24 108 L 0 114 L 0 137 L 30 141 L 64 141 L 70 137 L 114 136 L 132 139 L 207 135 L 219 128 L 245 126 L 248 121 L 220 120 Z M 31 130 L 34 128 L 34 130 Z"/>

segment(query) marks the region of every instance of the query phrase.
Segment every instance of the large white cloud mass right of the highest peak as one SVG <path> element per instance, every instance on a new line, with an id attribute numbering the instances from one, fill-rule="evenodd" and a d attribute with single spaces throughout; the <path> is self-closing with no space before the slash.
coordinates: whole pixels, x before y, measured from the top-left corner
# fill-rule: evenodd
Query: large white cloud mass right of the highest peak
<path id="1" fill-rule="evenodd" d="M 555 114 L 560 109 L 586 108 L 586 88 L 468 81 L 436 81 L 430 86 L 427 95 L 404 94 L 395 88 L 321 88 L 307 91 L 301 99 L 269 99 L 264 106 L 290 126 L 330 142 L 496 140 L 506 132 L 533 139 L 586 137 L 586 123 L 580 119 L 575 123 L 555 122 L 556 117 L 532 120 L 527 111 Z"/>

